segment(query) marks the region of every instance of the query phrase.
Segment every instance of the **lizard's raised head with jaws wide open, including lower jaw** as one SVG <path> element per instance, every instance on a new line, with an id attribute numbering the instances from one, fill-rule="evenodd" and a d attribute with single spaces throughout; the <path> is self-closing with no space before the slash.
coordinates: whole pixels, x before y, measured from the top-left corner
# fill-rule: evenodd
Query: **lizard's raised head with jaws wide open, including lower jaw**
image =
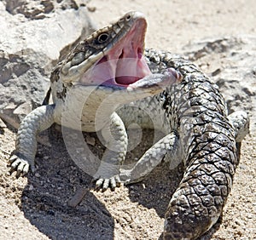
<path id="1" fill-rule="evenodd" d="M 123 90 L 123 96 L 129 95 L 124 102 L 160 93 L 163 85 L 176 82 L 177 72 L 168 71 L 166 77 L 150 77 L 152 72 L 143 56 L 146 30 L 143 14 L 125 14 L 80 42 L 55 67 L 51 82 L 79 86 L 84 93 L 94 87 L 98 93 L 102 90 L 102 96 L 103 92 Z"/>

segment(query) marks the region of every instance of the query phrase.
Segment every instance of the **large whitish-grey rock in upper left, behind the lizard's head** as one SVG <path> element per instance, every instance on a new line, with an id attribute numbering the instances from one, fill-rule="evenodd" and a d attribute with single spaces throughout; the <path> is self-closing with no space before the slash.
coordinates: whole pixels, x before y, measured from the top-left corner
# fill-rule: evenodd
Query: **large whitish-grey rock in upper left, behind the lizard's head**
<path id="1" fill-rule="evenodd" d="M 95 29 L 83 5 L 0 2 L 0 117 L 15 128 L 41 105 L 58 59 Z"/>

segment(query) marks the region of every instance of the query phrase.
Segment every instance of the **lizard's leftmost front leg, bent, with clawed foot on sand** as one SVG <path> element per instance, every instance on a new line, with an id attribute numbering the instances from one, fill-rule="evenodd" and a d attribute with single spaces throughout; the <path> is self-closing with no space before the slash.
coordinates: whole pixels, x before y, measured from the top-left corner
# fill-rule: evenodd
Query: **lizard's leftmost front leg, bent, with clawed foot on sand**
<path id="1" fill-rule="evenodd" d="M 10 173 L 16 177 L 35 170 L 34 158 L 37 151 L 37 135 L 48 129 L 54 121 L 54 105 L 39 106 L 30 112 L 20 123 L 17 133 L 15 154 L 10 157 Z"/>

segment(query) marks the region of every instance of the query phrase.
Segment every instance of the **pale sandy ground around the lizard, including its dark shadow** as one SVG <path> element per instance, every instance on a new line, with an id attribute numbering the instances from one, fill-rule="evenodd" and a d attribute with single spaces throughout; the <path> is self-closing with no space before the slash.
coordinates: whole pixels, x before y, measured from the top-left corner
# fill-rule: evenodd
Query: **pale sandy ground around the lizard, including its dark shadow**
<path id="1" fill-rule="evenodd" d="M 177 53 L 207 37 L 256 35 L 254 0 L 92 0 L 88 6 L 98 26 L 129 10 L 143 12 L 148 19 L 146 47 Z M 207 73 L 224 65 L 214 57 L 207 63 L 198 61 Z M 256 239 L 255 111 L 251 116 L 251 133 L 242 142 L 241 162 L 222 219 L 201 239 Z M 49 129 L 41 134 L 48 145 L 38 145 L 37 173 L 16 180 L 7 174 L 15 134 L 9 125 L 0 128 L 0 239 L 161 239 L 165 210 L 182 178 L 182 166 L 170 171 L 163 163 L 136 185 L 93 191 L 91 177 L 73 163 L 61 133 Z M 96 140 L 95 134 L 89 136 Z M 128 158 L 139 156 L 148 144 L 143 141 Z M 102 153 L 98 140 L 94 148 Z M 79 188 L 86 189 L 84 199 L 70 207 L 67 203 Z"/>

